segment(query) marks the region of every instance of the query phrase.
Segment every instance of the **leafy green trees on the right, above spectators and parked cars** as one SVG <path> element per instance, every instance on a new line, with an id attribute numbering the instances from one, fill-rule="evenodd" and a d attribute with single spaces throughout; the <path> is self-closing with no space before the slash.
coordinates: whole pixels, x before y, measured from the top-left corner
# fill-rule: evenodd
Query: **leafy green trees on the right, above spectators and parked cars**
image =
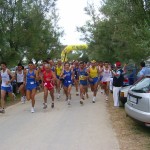
<path id="1" fill-rule="evenodd" d="M 78 31 L 89 43 L 89 58 L 114 62 L 139 62 L 150 55 L 150 7 L 143 0 L 105 0 L 99 13 L 90 4 L 91 20 Z M 92 9 L 92 10 L 91 10 Z M 91 13 L 92 12 L 92 13 Z"/>

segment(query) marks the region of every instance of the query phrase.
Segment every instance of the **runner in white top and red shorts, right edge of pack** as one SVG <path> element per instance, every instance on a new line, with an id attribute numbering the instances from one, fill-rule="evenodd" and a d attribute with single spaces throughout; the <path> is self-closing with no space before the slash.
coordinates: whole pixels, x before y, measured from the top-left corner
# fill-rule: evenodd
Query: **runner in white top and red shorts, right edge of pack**
<path id="1" fill-rule="evenodd" d="M 108 100 L 108 95 L 109 95 L 109 82 L 111 78 L 111 68 L 109 67 L 108 62 L 104 63 L 104 67 L 102 70 L 102 89 L 104 89 L 104 93 L 106 95 L 106 101 Z"/>

